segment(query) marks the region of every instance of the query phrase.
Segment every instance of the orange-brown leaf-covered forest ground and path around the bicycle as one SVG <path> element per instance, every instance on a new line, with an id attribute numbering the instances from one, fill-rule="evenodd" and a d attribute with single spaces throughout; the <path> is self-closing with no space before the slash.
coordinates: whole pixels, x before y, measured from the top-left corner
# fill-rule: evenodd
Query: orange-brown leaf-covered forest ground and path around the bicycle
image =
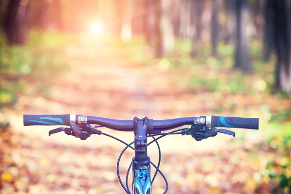
<path id="1" fill-rule="evenodd" d="M 23 127 L 24 113 L 77 113 L 115 119 L 245 116 L 259 117 L 260 126 L 268 126 L 271 112 L 291 107 L 290 100 L 262 92 L 259 76 L 248 77 L 253 79 L 254 94 L 231 93 L 227 87 L 213 90 L 201 86 L 201 82 L 194 81 L 194 86 L 191 85 L 193 75 L 220 73 L 226 77 L 222 81 L 226 85 L 227 78 L 232 76 L 231 70 L 196 64 L 169 68 L 170 62 L 166 59 L 151 60 L 152 64 L 134 62 L 128 60 L 130 53 L 122 53 L 121 47 L 113 49 L 102 42 L 95 42 L 91 47 L 87 42 L 83 44 L 67 49 L 70 68 L 61 77 L 42 81 L 28 79 L 28 86 L 15 108 L 3 111 L 2 116 L 11 123 L 9 130 L 0 133 L 0 191 L 3 194 L 125 193 L 116 176 L 116 162 L 124 145 L 105 136 L 92 136 L 86 141 L 64 133 L 48 137 L 52 127 Z M 146 55 L 150 51 L 142 52 Z M 129 132 L 101 130 L 128 143 L 133 140 Z M 278 182 L 268 176 L 268 162 L 287 165 L 290 149 L 275 149 L 276 146 L 264 143 L 261 127 L 259 131 L 235 131 L 238 141 L 222 134 L 202 142 L 195 142 L 189 136 L 161 139 L 160 169 L 168 179 L 168 193 L 261 194 L 275 188 Z M 157 163 L 158 151 L 154 144 L 148 154 Z M 129 150 L 122 159 L 120 172 L 124 181 L 132 157 L 133 152 Z M 278 167 L 275 171 L 274 174 L 284 171 L 291 177 L 288 167 Z M 152 186 L 153 194 L 162 194 L 164 188 L 163 179 L 158 176 Z"/>

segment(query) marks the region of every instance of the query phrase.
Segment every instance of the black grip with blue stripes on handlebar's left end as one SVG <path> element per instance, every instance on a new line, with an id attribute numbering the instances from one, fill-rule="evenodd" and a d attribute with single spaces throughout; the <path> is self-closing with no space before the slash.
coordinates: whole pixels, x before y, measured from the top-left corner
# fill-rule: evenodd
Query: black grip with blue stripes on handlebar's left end
<path id="1" fill-rule="evenodd" d="M 70 114 L 23 114 L 23 125 L 66 125 L 70 126 Z"/>

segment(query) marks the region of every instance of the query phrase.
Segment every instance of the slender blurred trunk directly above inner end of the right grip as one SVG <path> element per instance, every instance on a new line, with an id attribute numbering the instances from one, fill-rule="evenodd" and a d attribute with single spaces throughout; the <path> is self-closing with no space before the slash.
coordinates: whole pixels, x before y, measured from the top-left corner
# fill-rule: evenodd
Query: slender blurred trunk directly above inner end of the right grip
<path id="1" fill-rule="evenodd" d="M 218 12 L 220 9 L 219 0 L 212 0 L 212 16 L 211 16 L 211 45 L 212 52 L 211 55 L 216 57 L 216 47 L 218 42 L 218 34 L 219 34 L 219 24 L 218 24 Z"/>

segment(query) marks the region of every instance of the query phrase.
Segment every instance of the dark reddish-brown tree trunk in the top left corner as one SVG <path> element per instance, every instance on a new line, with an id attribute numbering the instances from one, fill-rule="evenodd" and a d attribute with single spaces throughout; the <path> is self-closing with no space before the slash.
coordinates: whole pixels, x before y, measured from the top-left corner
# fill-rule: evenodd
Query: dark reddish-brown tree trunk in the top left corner
<path id="1" fill-rule="evenodd" d="M 4 18 L 4 31 L 10 44 L 22 45 L 27 36 L 26 11 L 29 0 L 10 0 Z"/>

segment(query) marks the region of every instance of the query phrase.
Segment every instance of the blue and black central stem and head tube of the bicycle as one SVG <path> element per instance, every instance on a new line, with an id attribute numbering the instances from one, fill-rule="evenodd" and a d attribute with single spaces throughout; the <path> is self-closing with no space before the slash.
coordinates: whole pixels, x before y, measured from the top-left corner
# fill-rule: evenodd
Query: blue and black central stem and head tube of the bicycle
<path id="1" fill-rule="evenodd" d="M 150 158 L 147 156 L 147 133 L 149 119 L 134 117 L 134 148 L 135 157 L 132 159 L 132 192 L 133 194 L 151 194 Z"/>

